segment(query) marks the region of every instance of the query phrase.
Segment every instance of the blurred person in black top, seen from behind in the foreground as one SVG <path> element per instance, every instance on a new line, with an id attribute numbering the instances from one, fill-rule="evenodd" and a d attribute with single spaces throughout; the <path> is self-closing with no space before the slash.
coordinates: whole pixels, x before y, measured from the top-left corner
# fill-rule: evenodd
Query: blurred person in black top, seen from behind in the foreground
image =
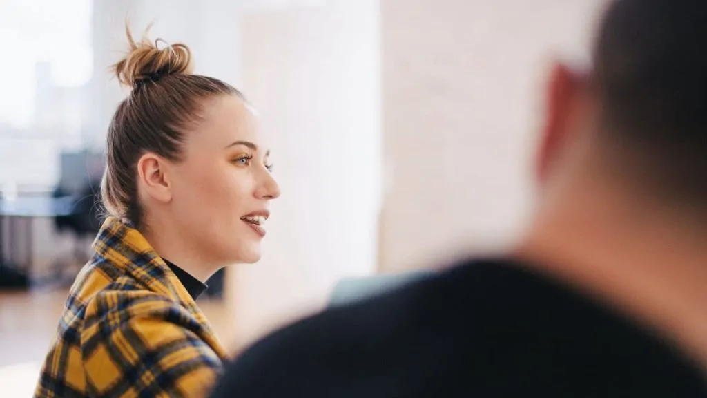
<path id="1" fill-rule="evenodd" d="M 518 248 L 268 336 L 213 397 L 706 397 L 707 1 L 554 67 Z"/>

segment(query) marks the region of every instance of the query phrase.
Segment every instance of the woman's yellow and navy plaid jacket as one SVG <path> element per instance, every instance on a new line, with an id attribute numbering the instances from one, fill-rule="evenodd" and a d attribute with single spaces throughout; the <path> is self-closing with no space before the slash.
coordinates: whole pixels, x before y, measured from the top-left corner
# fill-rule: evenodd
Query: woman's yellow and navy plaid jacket
<path id="1" fill-rule="evenodd" d="M 226 352 L 145 238 L 109 218 L 71 287 L 35 397 L 203 397 Z"/>

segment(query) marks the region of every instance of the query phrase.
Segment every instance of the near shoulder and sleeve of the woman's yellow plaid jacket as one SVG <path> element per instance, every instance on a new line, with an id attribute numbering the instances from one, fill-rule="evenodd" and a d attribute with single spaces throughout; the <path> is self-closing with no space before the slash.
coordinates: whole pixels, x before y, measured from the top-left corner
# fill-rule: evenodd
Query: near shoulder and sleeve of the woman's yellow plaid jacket
<path id="1" fill-rule="evenodd" d="M 165 388 L 173 396 L 204 390 L 221 372 L 213 340 L 196 317 L 170 297 L 108 288 L 88 302 L 81 354 L 100 396 L 117 396 L 116 389 L 137 396 Z M 147 384 L 144 374 L 153 376 Z"/>

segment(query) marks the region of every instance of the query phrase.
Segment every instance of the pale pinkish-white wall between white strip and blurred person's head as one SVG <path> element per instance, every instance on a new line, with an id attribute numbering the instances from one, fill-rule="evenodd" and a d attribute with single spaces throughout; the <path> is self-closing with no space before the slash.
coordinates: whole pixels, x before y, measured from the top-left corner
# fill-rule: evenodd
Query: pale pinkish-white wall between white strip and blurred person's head
<path id="1" fill-rule="evenodd" d="M 515 239 L 547 67 L 587 59 L 603 2 L 382 0 L 383 271 Z"/>

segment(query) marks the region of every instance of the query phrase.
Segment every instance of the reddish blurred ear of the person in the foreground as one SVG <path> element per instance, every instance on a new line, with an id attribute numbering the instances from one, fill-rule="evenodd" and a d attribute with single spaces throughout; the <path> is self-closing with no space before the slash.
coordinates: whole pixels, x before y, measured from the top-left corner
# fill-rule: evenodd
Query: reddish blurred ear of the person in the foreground
<path id="1" fill-rule="evenodd" d="M 551 69 L 545 92 L 545 114 L 537 157 L 535 178 L 539 184 L 547 181 L 557 159 L 576 130 L 575 111 L 580 101 L 585 77 L 565 64 L 556 63 Z"/>

